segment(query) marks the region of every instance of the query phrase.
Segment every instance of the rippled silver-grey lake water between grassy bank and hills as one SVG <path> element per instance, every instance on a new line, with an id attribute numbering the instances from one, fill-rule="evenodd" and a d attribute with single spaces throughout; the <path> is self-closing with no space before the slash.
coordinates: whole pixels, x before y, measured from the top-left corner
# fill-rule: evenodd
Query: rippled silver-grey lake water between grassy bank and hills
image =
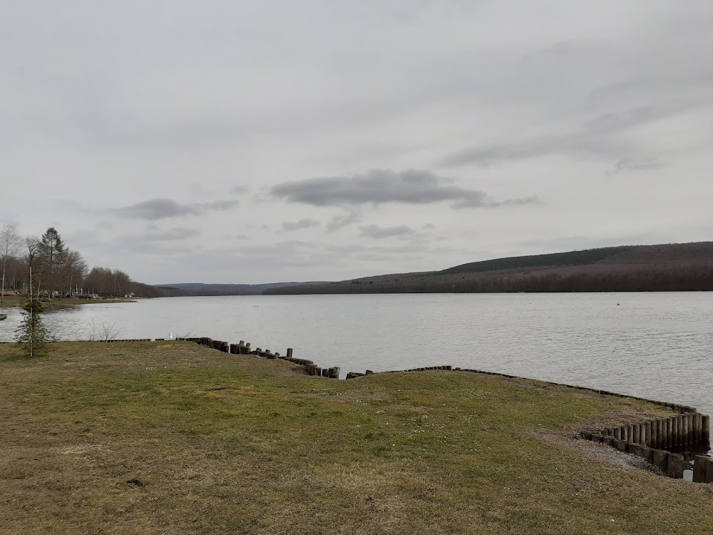
<path id="1" fill-rule="evenodd" d="M 13 339 L 19 310 L 0 322 Z M 452 365 L 692 405 L 713 414 L 707 292 L 171 297 L 46 314 L 63 340 L 207 336 L 347 372 Z"/>

